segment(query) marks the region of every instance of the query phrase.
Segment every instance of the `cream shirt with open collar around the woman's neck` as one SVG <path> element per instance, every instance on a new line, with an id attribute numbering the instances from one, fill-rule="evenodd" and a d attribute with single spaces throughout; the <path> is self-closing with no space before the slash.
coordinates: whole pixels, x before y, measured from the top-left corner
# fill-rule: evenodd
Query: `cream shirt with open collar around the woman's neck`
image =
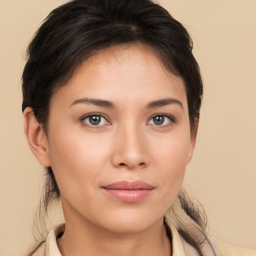
<path id="1" fill-rule="evenodd" d="M 56 238 L 59 233 L 64 231 L 64 229 L 65 224 L 53 226 L 50 229 L 45 242 L 42 243 L 40 247 L 33 253 L 33 256 L 61 256 L 57 246 Z M 180 237 L 177 229 L 171 223 L 169 223 L 169 231 L 171 233 L 172 243 L 171 256 L 198 255 L 197 252 L 190 245 L 184 244 L 184 241 L 182 241 L 182 238 Z M 209 235 L 208 238 L 210 240 L 211 249 L 213 248 L 216 256 L 256 256 L 256 249 L 242 248 L 236 245 L 220 241 Z M 185 248 L 185 246 L 187 247 Z M 184 251 L 186 251 L 186 254 Z M 213 254 L 211 254 L 210 252 L 209 254 L 207 253 L 205 255 L 208 256 Z"/>

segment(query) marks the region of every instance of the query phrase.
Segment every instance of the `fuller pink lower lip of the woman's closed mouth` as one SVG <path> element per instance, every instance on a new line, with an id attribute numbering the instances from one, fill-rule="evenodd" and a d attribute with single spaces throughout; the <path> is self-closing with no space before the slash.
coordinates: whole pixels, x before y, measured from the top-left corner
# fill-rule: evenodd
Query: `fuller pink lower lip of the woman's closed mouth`
<path id="1" fill-rule="evenodd" d="M 103 188 L 104 191 L 120 201 L 124 202 L 137 202 L 145 197 L 147 197 L 153 189 L 135 189 L 135 190 L 128 190 L 128 189 L 107 189 Z"/>

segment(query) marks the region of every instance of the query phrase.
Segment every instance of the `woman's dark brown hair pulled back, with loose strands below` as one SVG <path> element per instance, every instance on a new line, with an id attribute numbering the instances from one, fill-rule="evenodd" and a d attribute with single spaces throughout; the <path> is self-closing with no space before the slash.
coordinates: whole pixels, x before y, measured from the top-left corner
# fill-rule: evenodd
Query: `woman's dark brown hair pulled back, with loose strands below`
<path id="1" fill-rule="evenodd" d="M 184 26 L 151 0 L 72 0 L 52 10 L 27 48 L 22 74 L 22 111 L 30 106 L 47 134 L 49 102 L 76 67 L 100 49 L 142 43 L 164 68 L 183 78 L 191 132 L 199 117 L 203 84 Z M 41 209 L 60 197 L 51 167 L 46 168 Z M 181 199 L 180 199 L 181 198 Z M 199 211 L 180 195 L 186 214 L 204 227 Z"/>

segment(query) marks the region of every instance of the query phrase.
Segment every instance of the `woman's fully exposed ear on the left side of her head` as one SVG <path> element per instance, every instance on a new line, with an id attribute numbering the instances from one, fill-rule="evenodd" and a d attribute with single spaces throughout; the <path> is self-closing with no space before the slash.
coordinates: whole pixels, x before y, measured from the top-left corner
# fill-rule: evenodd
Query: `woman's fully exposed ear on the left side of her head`
<path id="1" fill-rule="evenodd" d="M 31 107 L 26 107 L 24 112 L 24 131 L 28 145 L 38 162 L 43 166 L 50 166 L 47 150 L 48 140 L 41 125 L 36 121 Z"/>

